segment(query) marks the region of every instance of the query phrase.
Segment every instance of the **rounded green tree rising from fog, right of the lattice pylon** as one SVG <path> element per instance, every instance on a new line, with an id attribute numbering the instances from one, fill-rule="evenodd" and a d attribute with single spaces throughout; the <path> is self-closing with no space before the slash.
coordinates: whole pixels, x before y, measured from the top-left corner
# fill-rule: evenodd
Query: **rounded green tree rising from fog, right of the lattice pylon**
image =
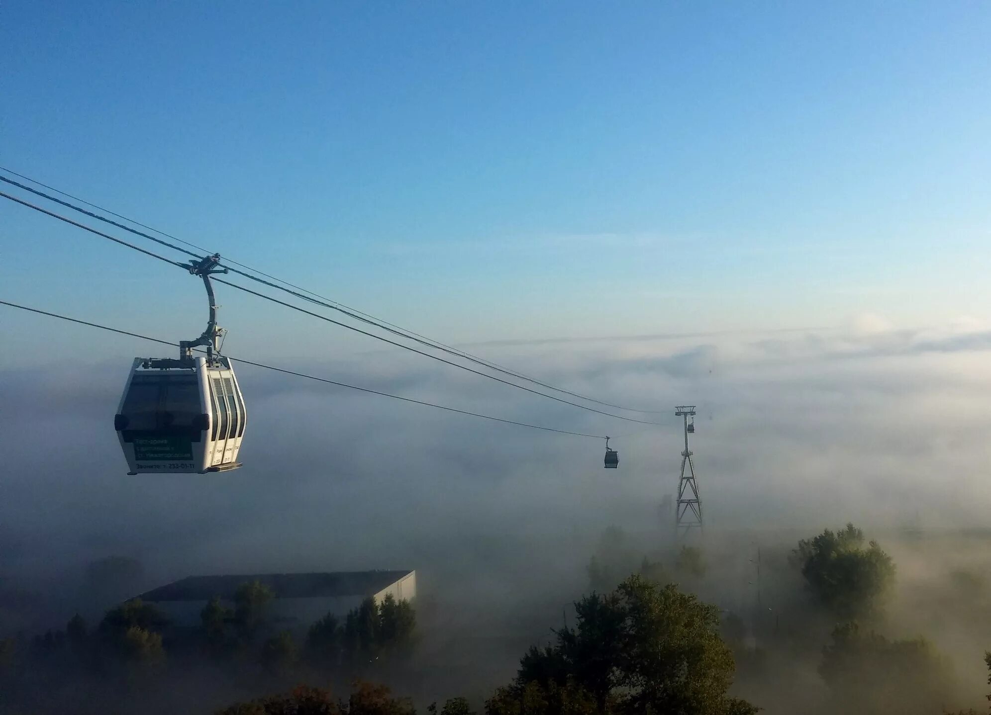
<path id="1" fill-rule="evenodd" d="M 852 524 L 803 539 L 792 562 L 801 566 L 809 588 L 830 611 L 844 619 L 877 613 L 895 581 L 895 564 L 877 542 L 863 547 L 863 532 Z"/>

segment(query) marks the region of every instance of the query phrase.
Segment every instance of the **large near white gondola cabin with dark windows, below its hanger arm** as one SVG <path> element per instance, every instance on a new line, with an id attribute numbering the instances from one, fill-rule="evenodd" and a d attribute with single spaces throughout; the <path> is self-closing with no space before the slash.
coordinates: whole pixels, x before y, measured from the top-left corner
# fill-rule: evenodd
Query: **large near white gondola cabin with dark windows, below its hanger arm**
<path id="1" fill-rule="evenodd" d="M 129 474 L 241 466 L 247 413 L 228 358 L 135 358 L 114 429 Z"/>

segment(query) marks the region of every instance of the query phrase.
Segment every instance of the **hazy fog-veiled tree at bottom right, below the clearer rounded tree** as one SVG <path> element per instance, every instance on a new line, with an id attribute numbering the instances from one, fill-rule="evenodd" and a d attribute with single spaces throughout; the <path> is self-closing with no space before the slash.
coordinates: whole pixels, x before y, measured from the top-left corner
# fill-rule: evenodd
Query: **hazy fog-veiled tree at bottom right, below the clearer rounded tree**
<path id="1" fill-rule="evenodd" d="M 833 630 L 819 671 L 838 709 L 865 715 L 940 712 L 954 691 L 949 663 L 932 643 L 889 641 L 855 622 Z"/>

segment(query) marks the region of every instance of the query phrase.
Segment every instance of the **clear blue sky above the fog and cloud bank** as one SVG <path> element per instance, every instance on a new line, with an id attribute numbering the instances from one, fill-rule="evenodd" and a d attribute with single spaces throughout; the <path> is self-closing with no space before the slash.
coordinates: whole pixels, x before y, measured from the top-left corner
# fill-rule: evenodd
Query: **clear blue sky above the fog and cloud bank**
<path id="1" fill-rule="evenodd" d="M 991 308 L 988 37 L 976 2 L 15 0 L 0 164 L 445 341 L 929 325 Z M 6 201 L 0 251 L 4 299 L 200 329 L 189 276 Z M 256 355 L 339 344 L 251 301 Z M 0 355 L 118 352 L 39 327 L 0 312 Z"/>

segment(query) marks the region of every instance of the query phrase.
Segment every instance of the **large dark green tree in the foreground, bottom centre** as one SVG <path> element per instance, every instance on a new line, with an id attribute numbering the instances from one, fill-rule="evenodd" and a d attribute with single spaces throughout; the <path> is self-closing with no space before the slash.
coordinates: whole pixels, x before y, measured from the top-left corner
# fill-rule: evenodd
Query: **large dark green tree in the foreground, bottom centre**
<path id="1" fill-rule="evenodd" d="M 630 712 L 756 712 L 726 697 L 734 664 L 719 638 L 716 606 L 632 575 L 611 593 L 586 596 L 575 610 L 577 627 L 558 631 L 553 647 L 531 648 L 490 709 L 546 709 L 538 696 L 546 701 L 553 684 L 588 693 L 600 713 L 610 703 Z"/>

